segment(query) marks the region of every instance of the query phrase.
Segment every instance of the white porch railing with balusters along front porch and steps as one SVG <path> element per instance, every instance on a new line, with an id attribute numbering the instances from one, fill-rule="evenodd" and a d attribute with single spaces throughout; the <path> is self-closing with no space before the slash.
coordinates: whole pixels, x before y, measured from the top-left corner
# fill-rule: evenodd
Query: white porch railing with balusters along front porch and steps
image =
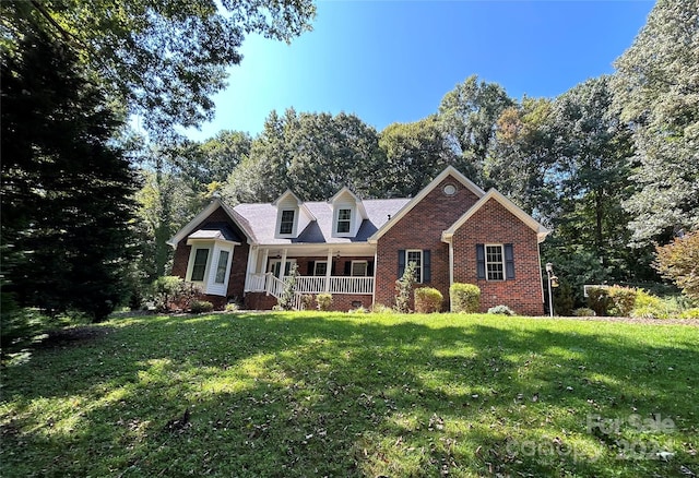
<path id="1" fill-rule="evenodd" d="M 374 294 L 374 277 L 337 277 L 331 276 L 328 290 L 323 276 L 296 276 L 296 294 Z M 248 288 L 250 292 L 266 292 L 280 297 L 284 289 L 284 282 L 272 273 L 249 274 Z"/>

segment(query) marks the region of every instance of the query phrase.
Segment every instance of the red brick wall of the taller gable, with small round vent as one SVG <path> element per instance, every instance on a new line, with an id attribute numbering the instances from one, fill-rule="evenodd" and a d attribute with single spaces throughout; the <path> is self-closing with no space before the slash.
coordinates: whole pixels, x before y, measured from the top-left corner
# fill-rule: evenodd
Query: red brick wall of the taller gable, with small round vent
<path id="1" fill-rule="evenodd" d="M 457 188 L 447 195 L 443 187 Z M 429 250 L 431 280 L 416 287 L 434 287 L 445 296 L 442 310 L 449 310 L 449 244 L 441 241 L 441 232 L 454 224 L 478 198 L 461 182 L 447 177 L 434 188 L 405 216 L 396 219 L 377 243 L 376 303 L 392 306 L 395 302 L 399 251 L 406 249 Z M 392 219 L 393 220 L 393 219 Z"/>

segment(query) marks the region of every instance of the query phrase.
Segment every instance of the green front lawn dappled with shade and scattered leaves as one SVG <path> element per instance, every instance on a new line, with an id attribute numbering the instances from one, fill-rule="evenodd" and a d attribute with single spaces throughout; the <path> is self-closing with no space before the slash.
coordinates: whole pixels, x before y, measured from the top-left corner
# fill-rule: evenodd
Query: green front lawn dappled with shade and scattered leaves
<path id="1" fill-rule="evenodd" d="M 3 477 L 699 474 L 695 326 L 306 312 L 98 330 L 3 368 Z"/>

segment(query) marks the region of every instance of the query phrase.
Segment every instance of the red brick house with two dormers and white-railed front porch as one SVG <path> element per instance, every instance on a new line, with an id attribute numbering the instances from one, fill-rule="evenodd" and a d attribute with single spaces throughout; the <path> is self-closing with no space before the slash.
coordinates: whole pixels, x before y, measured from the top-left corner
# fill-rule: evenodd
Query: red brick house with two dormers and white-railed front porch
<path id="1" fill-rule="evenodd" d="M 286 191 L 273 203 L 229 207 L 214 199 L 169 241 L 173 275 L 199 284 L 215 306 L 271 309 L 296 264 L 296 292 L 333 296 L 350 310 L 394 302 L 395 280 L 416 264 L 418 284 L 481 287 L 481 307 L 543 313 L 538 244 L 548 230 L 502 194 L 453 167 L 412 199 L 362 200 L 343 188 L 327 202 Z"/>

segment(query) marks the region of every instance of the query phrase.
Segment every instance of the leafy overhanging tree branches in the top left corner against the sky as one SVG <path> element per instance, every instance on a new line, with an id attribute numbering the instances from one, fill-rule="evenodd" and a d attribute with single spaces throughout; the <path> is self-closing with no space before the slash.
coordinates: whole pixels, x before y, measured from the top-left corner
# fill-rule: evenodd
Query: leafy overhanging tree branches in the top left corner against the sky
<path id="1" fill-rule="evenodd" d="M 310 29 L 311 0 L 14 0 L 3 2 L 2 41 L 39 27 L 80 51 L 110 95 L 152 133 L 197 126 L 238 64 L 244 37 L 289 41 Z"/>

